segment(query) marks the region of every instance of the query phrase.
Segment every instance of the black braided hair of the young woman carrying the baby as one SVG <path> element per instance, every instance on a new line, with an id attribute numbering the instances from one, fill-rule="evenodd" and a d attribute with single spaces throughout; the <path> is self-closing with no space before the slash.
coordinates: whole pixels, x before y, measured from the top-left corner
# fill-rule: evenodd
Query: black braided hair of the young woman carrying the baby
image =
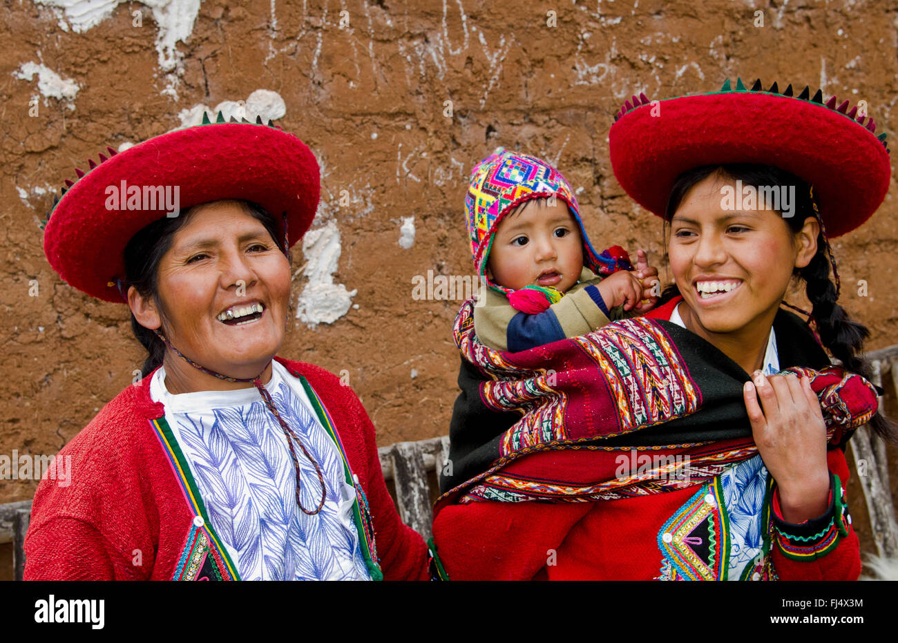
<path id="1" fill-rule="evenodd" d="M 794 185 L 796 203 L 793 216 L 783 217 L 793 233 L 801 230 L 808 216 L 817 218 L 811 186 L 790 172 L 780 170 L 772 165 L 751 163 L 703 165 L 683 172 L 674 182 L 674 188 L 671 189 L 665 210 L 665 239 L 666 227 L 673 220 L 682 198 L 694 185 L 715 172 L 722 172 L 730 179 L 742 181 L 744 185 L 751 185 L 755 188 Z M 823 346 L 830 351 L 832 357 L 841 361 L 846 370 L 870 380 L 872 368 L 862 356 L 864 340 L 869 337 L 870 331 L 863 324 L 850 319 L 849 314 L 839 305 L 836 285 L 830 279 L 830 256 L 829 242 L 826 240 L 823 226 L 821 226 L 821 231 L 817 235 L 816 254 L 805 268 L 795 269 L 793 274 L 805 282 L 807 299 L 813 306 L 811 317 Z M 838 275 L 836 275 L 836 279 L 838 283 Z M 661 294 L 658 305 L 665 304 L 677 295 L 680 295 L 680 290 L 675 283 L 667 286 Z M 879 411 L 870 420 L 870 427 L 876 436 L 889 442 L 898 443 L 898 427 Z"/>

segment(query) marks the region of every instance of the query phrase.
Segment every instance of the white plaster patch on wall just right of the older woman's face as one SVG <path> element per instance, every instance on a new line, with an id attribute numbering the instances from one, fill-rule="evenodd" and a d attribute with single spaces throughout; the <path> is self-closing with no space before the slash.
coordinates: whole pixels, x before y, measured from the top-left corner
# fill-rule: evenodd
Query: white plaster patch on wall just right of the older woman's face
<path id="1" fill-rule="evenodd" d="M 306 260 L 303 275 L 309 282 L 296 302 L 296 319 L 311 329 L 345 315 L 357 293 L 357 290 L 347 290 L 343 284 L 334 284 L 333 273 L 337 271 L 340 252 L 339 229 L 332 221 L 303 237 Z"/>

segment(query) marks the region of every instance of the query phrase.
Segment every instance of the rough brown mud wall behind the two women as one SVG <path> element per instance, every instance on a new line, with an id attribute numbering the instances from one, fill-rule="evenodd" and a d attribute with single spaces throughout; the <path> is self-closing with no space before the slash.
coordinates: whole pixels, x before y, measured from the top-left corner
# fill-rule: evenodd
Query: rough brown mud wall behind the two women
<path id="1" fill-rule="evenodd" d="M 709 92 L 726 78 L 761 76 L 765 87 L 810 84 L 824 100 L 865 100 L 877 132 L 898 131 L 894 1 L 304 4 L 203 2 L 174 45 L 173 75 L 160 66 L 161 31 L 141 4 L 119 4 L 82 32 L 31 0 L 0 4 L 0 454 L 56 453 L 142 362 L 127 309 L 66 286 L 44 258 L 38 222 L 48 189 L 74 179 L 75 165 L 180 126 L 180 110 L 277 92 L 286 104 L 277 122 L 317 154 L 315 226 L 336 225 L 333 282 L 357 291 L 357 307 L 315 328 L 295 320 L 280 354 L 345 372 L 380 445 L 448 431 L 459 302 L 416 301 L 411 279 L 473 272 L 466 180 L 497 145 L 557 163 L 596 246 L 645 247 L 658 260 L 662 226 L 624 195 L 608 160 L 613 114 L 631 94 Z M 17 75 L 29 61 L 75 82 L 75 98 L 32 100 L 38 77 Z M 893 184 L 876 216 L 835 243 L 842 301 L 869 326 L 869 348 L 898 343 L 896 194 Z M 414 242 L 404 248 L 410 216 Z M 307 258 L 298 245 L 294 254 L 299 268 Z M 858 296 L 861 279 L 867 296 Z M 39 294 L 30 296 L 34 280 Z M 294 304 L 304 286 L 297 275 Z M 31 498 L 35 486 L 4 480 L 0 503 Z M 854 480 L 850 492 L 864 515 Z"/>

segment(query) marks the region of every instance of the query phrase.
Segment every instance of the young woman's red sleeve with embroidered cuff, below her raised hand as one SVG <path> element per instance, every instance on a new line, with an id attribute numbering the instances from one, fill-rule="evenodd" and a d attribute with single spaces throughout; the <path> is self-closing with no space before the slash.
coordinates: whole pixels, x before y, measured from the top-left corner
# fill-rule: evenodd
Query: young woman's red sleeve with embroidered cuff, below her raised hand
<path id="1" fill-rule="evenodd" d="M 831 472 L 830 509 L 801 525 L 788 525 L 774 499 L 773 568 L 780 580 L 858 580 L 860 545 L 845 502 L 849 469 L 841 449 L 827 456 Z M 774 490 L 776 493 L 776 490 Z"/>

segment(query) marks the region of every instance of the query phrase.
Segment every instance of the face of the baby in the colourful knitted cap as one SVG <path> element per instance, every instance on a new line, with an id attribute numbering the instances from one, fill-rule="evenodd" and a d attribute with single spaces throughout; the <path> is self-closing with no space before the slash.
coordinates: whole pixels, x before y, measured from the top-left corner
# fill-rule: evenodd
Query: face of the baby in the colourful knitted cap
<path id="1" fill-rule="evenodd" d="M 499 223 L 487 275 L 499 286 L 551 286 L 562 293 L 583 269 L 580 228 L 560 198 L 534 198 Z"/>

